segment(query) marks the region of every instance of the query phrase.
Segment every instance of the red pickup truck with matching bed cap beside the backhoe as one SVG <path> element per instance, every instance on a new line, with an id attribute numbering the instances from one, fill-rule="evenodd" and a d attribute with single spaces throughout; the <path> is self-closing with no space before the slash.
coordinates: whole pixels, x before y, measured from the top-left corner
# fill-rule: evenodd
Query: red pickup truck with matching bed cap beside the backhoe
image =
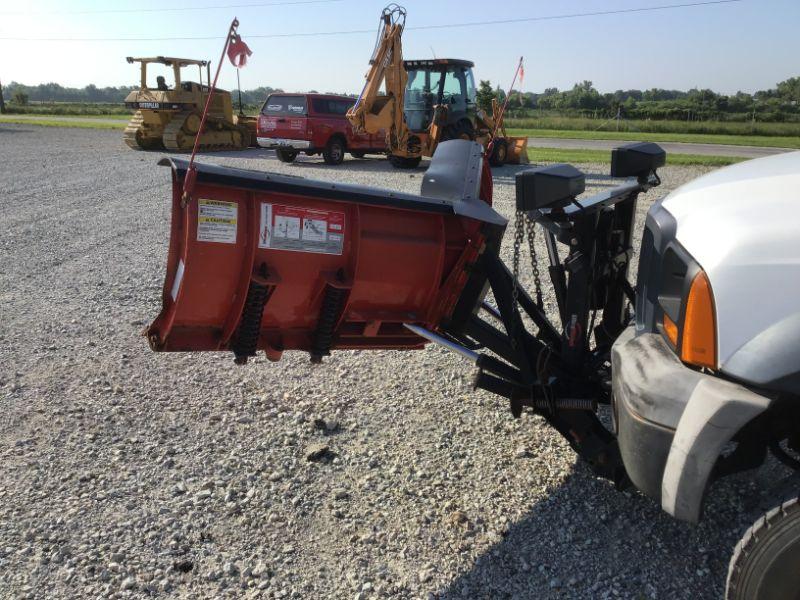
<path id="1" fill-rule="evenodd" d="M 355 98 L 329 94 L 287 94 L 267 97 L 258 118 L 258 145 L 276 150 L 278 160 L 292 162 L 300 152 L 322 154 L 329 165 L 338 165 L 349 152 L 386 154 L 386 135 L 353 132 L 345 116 Z"/>

